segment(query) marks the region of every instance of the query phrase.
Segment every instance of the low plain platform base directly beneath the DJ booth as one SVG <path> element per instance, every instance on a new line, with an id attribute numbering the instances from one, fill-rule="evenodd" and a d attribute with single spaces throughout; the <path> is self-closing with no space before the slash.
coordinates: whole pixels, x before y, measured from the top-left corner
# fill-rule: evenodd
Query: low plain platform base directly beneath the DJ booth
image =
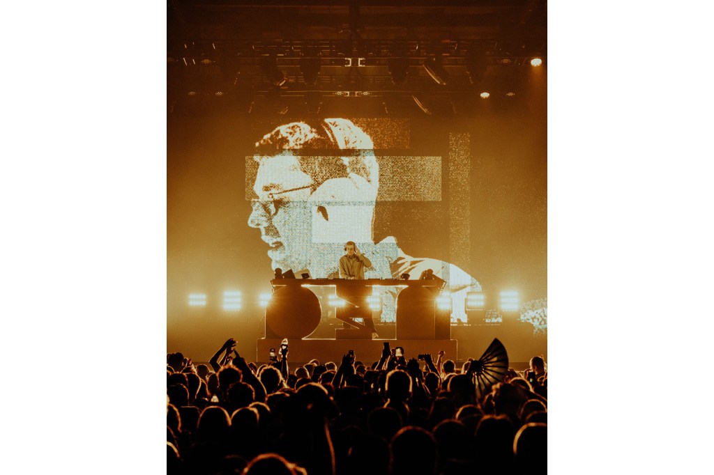
<path id="1" fill-rule="evenodd" d="M 266 362 L 271 348 L 280 350 L 282 339 L 258 339 L 256 362 Z M 420 353 L 431 353 L 433 360 L 439 350 L 446 354 L 457 354 L 455 339 L 291 339 L 288 344 L 289 362 L 308 362 L 313 358 L 320 362 L 332 361 L 340 364 L 343 355 L 350 349 L 355 352 L 355 359 L 367 366 L 379 361 L 384 342 L 389 342 L 390 348 L 403 347 L 407 359 L 417 358 Z M 453 357 L 452 357 L 453 358 Z M 421 363 L 423 364 L 423 363 Z"/>

